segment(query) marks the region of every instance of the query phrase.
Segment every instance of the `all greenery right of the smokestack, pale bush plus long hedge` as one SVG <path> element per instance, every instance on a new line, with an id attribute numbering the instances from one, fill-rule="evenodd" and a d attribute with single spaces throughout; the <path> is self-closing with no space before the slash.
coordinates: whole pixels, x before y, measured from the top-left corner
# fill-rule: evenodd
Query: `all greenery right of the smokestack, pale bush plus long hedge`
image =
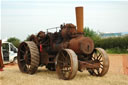
<path id="1" fill-rule="evenodd" d="M 85 27 L 84 36 L 90 37 L 94 41 L 95 47 L 103 48 L 108 53 L 128 53 L 128 35 L 121 37 L 101 38 L 97 32 Z"/>

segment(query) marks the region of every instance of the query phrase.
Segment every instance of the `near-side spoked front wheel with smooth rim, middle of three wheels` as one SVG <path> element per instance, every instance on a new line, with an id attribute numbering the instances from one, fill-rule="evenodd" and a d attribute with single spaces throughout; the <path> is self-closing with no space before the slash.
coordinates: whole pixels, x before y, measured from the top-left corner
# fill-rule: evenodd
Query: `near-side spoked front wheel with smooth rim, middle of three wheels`
<path id="1" fill-rule="evenodd" d="M 61 50 L 56 59 L 56 72 L 60 79 L 73 79 L 78 70 L 77 55 L 71 49 Z"/>

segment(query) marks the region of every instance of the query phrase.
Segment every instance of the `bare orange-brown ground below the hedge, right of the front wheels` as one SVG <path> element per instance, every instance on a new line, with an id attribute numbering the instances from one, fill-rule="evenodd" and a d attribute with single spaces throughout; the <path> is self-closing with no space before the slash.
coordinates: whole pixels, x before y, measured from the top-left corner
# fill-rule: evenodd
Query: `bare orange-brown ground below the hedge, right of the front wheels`
<path id="1" fill-rule="evenodd" d="M 128 74 L 128 54 L 109 54 L 109 71 L 116 74 Z"/>

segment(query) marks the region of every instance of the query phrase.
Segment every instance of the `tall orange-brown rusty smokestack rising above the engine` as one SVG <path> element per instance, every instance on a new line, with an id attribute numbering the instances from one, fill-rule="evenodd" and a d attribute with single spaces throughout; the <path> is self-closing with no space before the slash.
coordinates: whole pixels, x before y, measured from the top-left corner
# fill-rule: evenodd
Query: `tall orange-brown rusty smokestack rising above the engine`
<path id="1" fill-rule="evenodd" d="M 83 7 L 76 7 L 77 32 L 83 33 Z"/>

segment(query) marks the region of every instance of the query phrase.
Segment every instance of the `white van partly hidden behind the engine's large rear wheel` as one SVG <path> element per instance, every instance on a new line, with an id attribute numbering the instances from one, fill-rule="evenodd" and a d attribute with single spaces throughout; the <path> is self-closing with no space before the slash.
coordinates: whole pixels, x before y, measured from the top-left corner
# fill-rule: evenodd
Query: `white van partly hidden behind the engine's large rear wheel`
<path id="1" fill-rule="evenodd" d="M 2 58 L 4 64 L 17 61 L 18 49 L 10 42 L 2 42 Z"/>

